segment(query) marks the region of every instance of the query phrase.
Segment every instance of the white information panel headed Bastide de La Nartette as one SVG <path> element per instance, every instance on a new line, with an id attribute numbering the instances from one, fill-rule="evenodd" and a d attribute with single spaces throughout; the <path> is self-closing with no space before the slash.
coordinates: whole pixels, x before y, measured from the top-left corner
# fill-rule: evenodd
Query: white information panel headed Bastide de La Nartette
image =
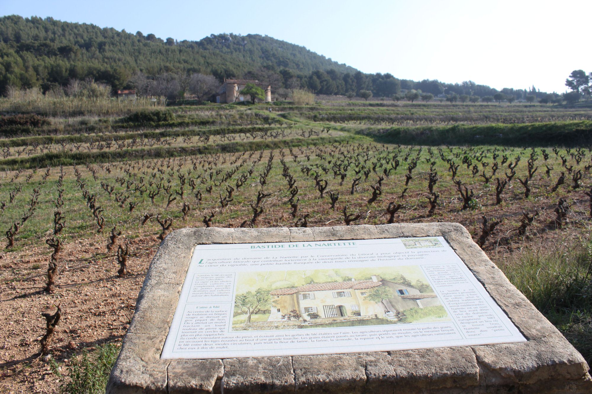
<path id="1" fill-rule="evenodd" d="M 526 341 L 443 237 L 195 248 L 162 359 Z"/>

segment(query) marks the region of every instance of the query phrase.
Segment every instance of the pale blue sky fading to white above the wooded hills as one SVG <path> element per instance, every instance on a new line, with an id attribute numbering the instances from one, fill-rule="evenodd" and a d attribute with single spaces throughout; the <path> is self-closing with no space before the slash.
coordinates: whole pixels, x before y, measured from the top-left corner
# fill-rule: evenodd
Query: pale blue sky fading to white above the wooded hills
<path id="1" fill-rule="evenodd" d="M 1 15 L 53 17 L 165 39 L 263 34 L 365 73 L 565 92 L 592 72 L 589 0 L 0 0 Z"/>

